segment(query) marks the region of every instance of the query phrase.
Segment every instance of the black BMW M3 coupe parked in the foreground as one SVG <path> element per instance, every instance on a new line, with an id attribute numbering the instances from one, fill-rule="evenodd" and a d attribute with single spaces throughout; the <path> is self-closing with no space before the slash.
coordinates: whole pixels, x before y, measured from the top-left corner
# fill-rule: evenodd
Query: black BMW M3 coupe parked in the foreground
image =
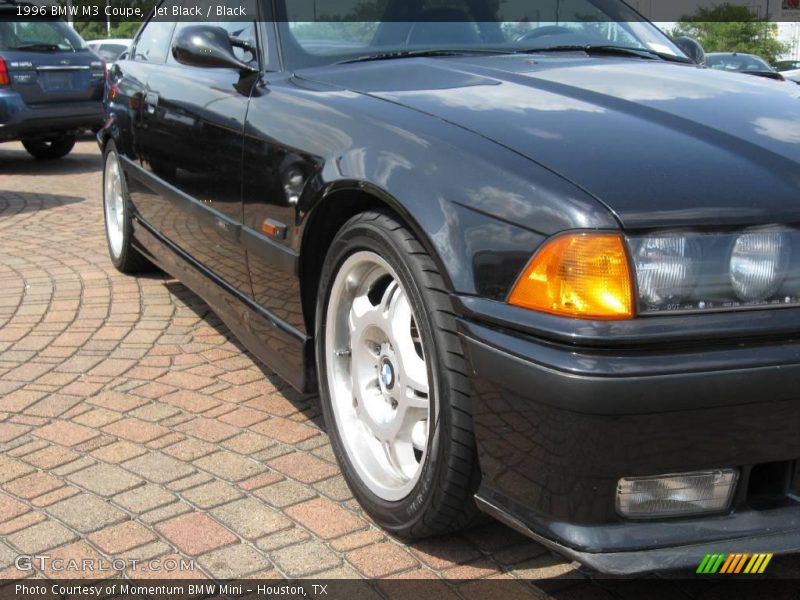
<path id="1" fill-rule="evenodd" d="M 800 88 L 531 3 L 160 3 L 106 82 L 111 260 L 318 393 L 398 536 L 482 511 L 620 574 L 800 551 Z"/>

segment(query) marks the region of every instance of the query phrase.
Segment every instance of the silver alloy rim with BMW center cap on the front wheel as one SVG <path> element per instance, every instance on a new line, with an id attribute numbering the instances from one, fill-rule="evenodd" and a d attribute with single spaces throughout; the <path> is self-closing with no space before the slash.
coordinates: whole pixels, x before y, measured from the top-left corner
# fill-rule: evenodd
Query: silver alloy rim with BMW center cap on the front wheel
<path id="1" fill-rule="evenodd" d="M 395 271 L 374 252 L 350 255 L 331 287 L 326 322 L 326 376 L 345 451 L 373 494 L 402 500 L 428 454 L 431 386 Z"/>

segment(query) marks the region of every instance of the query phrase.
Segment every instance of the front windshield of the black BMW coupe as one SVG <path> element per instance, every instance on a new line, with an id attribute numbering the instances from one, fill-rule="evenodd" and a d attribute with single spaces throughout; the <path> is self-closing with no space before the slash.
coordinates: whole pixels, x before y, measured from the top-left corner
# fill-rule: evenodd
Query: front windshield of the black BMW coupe
<path id="1" fill-rule="evenodd" d="M 284 0 L 278 9 L 283 54 L 295 68 L 448 50 L 588 46 L 686 60 L 620 0 Z"/>

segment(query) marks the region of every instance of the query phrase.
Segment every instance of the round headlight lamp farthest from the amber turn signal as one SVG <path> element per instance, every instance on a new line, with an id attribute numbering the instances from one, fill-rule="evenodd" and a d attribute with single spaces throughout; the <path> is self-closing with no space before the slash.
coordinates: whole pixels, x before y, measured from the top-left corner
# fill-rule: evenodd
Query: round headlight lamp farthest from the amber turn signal
<path id="1" fill-rule="evenodd" d="M 780 231 L 740 235 L 731 251 L 731 284 L 742 302 L 763 302 L 778 291 L 790 259 L 788 236 Z"/>

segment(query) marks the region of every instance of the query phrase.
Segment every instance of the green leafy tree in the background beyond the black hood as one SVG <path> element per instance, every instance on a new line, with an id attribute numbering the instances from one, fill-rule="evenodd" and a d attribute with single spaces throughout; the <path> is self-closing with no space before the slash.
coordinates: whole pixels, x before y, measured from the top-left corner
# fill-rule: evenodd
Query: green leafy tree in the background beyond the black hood
<path id="1" fill-rule="evenodd" d="M 671 34 L 695 38 L 706 52 L 757 54 L 772 64 L 789 50 L 788 44 L 778 40 L 777 23 L 759 19 L 746 6 L 728 3 L 682 17 Z"/>

